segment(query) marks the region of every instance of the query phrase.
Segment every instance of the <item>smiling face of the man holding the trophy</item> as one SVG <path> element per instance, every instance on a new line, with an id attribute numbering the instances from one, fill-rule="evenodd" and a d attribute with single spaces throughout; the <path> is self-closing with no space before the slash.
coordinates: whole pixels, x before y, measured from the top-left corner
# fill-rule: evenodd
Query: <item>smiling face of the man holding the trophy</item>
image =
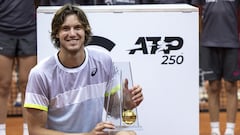
<path id="1" fill-rule="evenodd" d="M 60 41 L 60 49 L 69 53 L 77 53 L 83 50 L 85 30 L 76 15 L 68 15 L 65 18 L 57 37 Z"/>

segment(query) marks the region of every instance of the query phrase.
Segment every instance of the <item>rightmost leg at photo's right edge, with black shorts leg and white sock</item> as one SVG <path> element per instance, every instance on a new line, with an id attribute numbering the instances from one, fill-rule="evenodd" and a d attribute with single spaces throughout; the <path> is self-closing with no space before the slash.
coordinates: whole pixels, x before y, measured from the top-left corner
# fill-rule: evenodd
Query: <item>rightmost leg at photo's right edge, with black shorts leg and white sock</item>
<path id="1" fill-rule="evenodd" d="M 238 63 L 239 49 L 228 48 L 224 49 L 223 53 L 223 78 L 227 98 L 227 123 L 224 135 L 234 135 L 236 115 L 238 108 L 238 87 L 237 81 L 240 78 L 240 63 Z"/>

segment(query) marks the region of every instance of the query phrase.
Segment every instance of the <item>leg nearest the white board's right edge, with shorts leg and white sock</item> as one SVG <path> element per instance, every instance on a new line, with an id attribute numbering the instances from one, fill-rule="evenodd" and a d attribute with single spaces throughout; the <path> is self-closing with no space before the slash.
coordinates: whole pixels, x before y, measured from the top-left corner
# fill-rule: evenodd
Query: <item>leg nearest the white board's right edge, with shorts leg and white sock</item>
<path id="1" fill-rule="evenodd" d="M 222 89 L 221 49 L 200 46 L 200 68 L 205 72 L 204 80 L 208 81 L 208 110 L 210 115 L 211 135 L 220 135 L 219 111 Z"/>

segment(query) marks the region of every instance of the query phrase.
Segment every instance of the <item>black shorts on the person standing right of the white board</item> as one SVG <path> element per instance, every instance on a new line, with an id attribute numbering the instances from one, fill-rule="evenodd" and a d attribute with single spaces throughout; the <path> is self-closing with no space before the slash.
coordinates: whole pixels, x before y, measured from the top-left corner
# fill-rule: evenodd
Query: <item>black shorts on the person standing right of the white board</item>
<path id="1" fill-rule="evenodd" d="M 204 72 L 204 80 L 239 80 L 239 60 L 238 48 L 200 46 L 200 69 Z"/>

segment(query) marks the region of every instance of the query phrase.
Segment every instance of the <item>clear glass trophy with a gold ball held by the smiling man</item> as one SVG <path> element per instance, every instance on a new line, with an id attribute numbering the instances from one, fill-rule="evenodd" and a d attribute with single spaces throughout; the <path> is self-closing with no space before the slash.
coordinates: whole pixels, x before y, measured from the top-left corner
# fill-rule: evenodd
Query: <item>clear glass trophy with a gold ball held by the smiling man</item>
<path id="1" fill-rule="evenodd" d="M 118 90 L 108 94 L 106 108 L 106 121 L 115 125 L 115 129 L 107 131 L 141 130 L 137 108 L 133 107 L 132 94 L 127 89 L 133 87 L 130 62 L 115 62 L 120 84 Z"/>

